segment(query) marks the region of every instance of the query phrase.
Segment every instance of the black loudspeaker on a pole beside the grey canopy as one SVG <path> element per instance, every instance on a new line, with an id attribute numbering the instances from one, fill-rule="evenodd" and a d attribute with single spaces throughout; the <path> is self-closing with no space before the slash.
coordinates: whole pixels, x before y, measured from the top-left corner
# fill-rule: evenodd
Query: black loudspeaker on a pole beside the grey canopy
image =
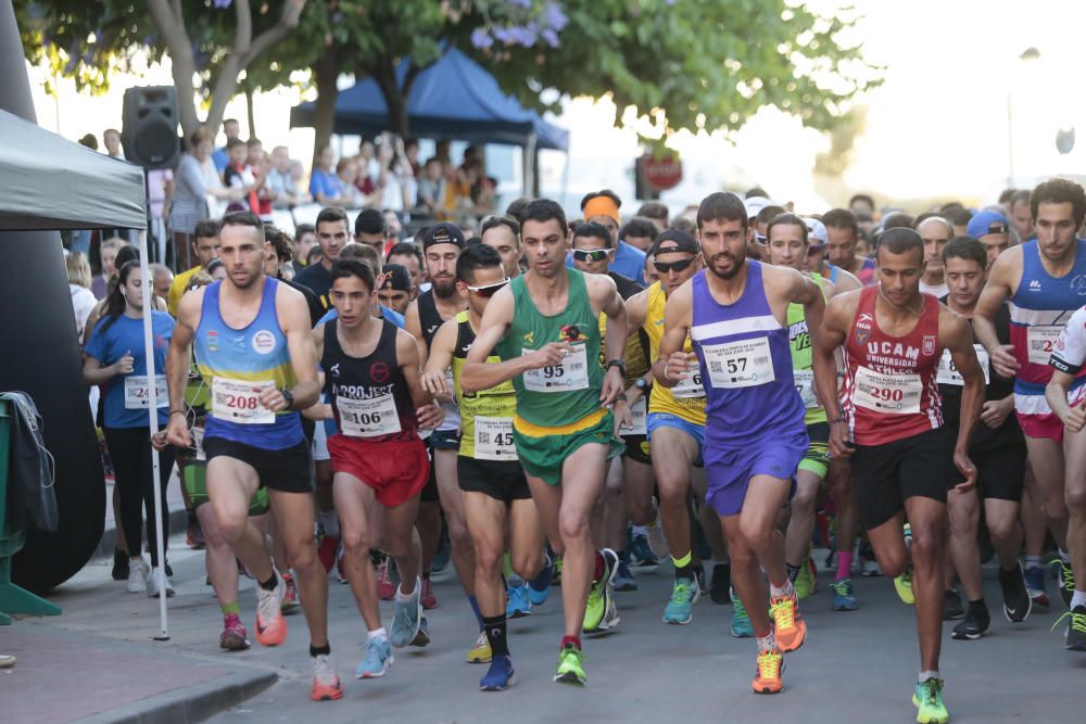
<path id="1" fill-rule="evenodd" d="M 121 142 L 125 157 L 148 170 L 175 168 L 181 153 L 177 137 L 177 90 L 173 86 L 125 91 Z"/>

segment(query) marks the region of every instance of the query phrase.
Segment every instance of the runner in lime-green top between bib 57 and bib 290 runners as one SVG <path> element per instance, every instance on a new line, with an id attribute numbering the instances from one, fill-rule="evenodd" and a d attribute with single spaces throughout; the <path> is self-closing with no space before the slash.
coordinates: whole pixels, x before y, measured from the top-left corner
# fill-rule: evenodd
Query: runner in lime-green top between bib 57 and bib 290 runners
<path id="1" fill-rule="evenodd" d="M 781 214 L 770 221 L 766 233 L 769 238 L 771 263 L 801 271 L 807 252 L 810 249 L 806 223 L 798 216 Z M 816 283 L 821 284 L 822 294 L 829 301 L 836 291 L 833 282 L 816 271 L 811 271 L 809 275 Z M 788 569 L 788 576 L 795 584 L 796 595 L 804 599 L 815 593 L 816 567 L 810 558 L 811 534 L 815 531 L 815 506 L 819 488 L 830 472 L 830 425 L 826 423 L 825 410 L 815 394 L 810 331 L 807 329 L 803 306 L 798 304 L 788 306 L 787 322 L 788 341 L 792 344 L 793 376 L 795 377 L 796 392 L 804 401 L 806 410 L 804 422 L 807 424 L 810 447 L 804 459 L 799 461 L 799 469 L 796 470 L 796 494 L 792 498 L 792 518 L 784 536 L 784 562 Z M 834 473 L 831 477 L 833 480 L 843 481 L 844 485 L 849 484 L 847 469 L 836 470 L 835 466 Z M 834 490 L 834 500 L 844 500 L 846 496 L 842 496 L 838 484 Z M 838 507 L 838 513 L 843 511 L 850 512 L 847 503 Z M 846 529 L 854 530 L 842 526 L 837 531 L 845 539 L 850 537 Z M 851 541 L 844 543 L 844 546 L 848 551 L 846 556 L 850 558 Z M 847 569 L 845 576 L 838 575 L 831 588 L 833 589 L 833 609 L 835 611 L 851 611 L 857 608 Z"/>

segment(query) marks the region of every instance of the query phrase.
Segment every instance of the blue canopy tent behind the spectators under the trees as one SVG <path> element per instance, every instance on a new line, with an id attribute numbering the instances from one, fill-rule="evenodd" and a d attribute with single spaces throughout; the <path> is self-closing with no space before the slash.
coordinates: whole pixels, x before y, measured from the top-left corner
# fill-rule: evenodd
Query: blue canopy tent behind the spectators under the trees
<path id="1" fill-rule="evenodd" d="M 396 66 L 403 87 L 407 62 Z M 290 111 L 291 127 L 313 126 L 316 103 Z M 497 80 L 481 65 L 451 48 L 415 78 L 407 94 L 407 124 L 413 135 L 465 141 L 506 143 L 525 149 L 525 186 L 531 189 L 539 149 L 569 150 L 569 131 L 528 111 L 502 92 Z M 374 78 L 340 91 L 332 132 L 376 136 L 389 130 L 389 109 Z"/>

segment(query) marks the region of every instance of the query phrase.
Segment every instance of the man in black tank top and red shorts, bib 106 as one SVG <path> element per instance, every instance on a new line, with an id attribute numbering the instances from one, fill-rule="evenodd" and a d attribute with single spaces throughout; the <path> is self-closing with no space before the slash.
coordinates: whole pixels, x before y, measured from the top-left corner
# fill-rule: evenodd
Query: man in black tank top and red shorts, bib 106
<path id="1" fill-rule="evenodd" d="M 314 410 L 334 416 L 339 432 L 328 439 L 332 492 L 343 531 L 343 562 L 368 631 L 358 678 L 383 676 L 393 662 L 391 646 L 426 646 L 419 590 L 418 495 L 430 474 L 418 429 L 441 412 L 419 381 L 414 338 L 370 315 L 377 301 L 374 272 L 361 259 L 332 264 L 330 296 L 338 319 L 313 330 L 325 373 L 328 405 Z M 417 416 L 416 416 L 417 410 Z M 376 505 L 384 508 L 384 532 L 371 530 Z M 369 551 L 380 547 L 400 570 L 391 636 L 381 627 L 377 580 Z M 406 590 L 405 590 L 406 588 Z"/>

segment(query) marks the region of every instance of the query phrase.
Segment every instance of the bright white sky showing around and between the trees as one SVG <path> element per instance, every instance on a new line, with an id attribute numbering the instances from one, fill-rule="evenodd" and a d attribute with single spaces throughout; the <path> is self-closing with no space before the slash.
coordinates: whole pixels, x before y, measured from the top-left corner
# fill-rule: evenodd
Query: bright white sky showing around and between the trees
<path id="1" fill-rule="evenodd" d="M 679 0 L 693 1 L 693 0 Z M 856 161 L 836 183 L 812 178 L 816 154 L 826 138 L 795 118 L 763 109 L 731 138 L 720 134 L 673 140 L 684 164 L 684 181 L 664 200 L 673 208 L 705 193 L 752 185 L 799 211 L 843 204 L 851 191 L 876 199 L 963 199 L 994 201 L 1006 187 L 1013 163 L 1019 185 L 1053 174 L 1086 169 L 1086 94 L 1072 74 L 1081 67 L 1086 3 L 1075 0 L 819 0 L 818 9 L 855 5 L 861 13 L 855 39 L 864 58 L 885 66 L 885 82 L 857 99 L 867 111 L 867 129 L 857 140 Z M 1027 48 L 1039 51 L 1023 62 Z M 121 99 L 132 85 L 169 84 L 166 68 L 141 78 L 115 78 L 105 98 L 76 93 L 61 80 L 60 97 L 46 94 L 46 74 L 29 68 L 38 122 L 77 139 L 121 126 Z M 302 100 L 282 89 L 256 101 L 257 135 L 265 148 L 286 143 L 308 160 L 312 131 L 288 127 L 289 107 Z M 1012 123 L 1008 125 L 1008 106 Z M 607 99 L 567 99 L 553 118 L 571 130 L 570 153 L 545 153 L 543 191 L 561 194 L 567 205 L 586 191 L 609 187 L 633 195 L 636 135 L 615 128 L 617 110 Z M 227 117 L 244 119 L 244 99 Z M 1082 138 L 1068 155 L 1056 150 L 1061 127 L 1077 126 Z M 242 122 L 244 129 L 244 122 Z M 244 134 L 243 134 L 244 135 Z M 1011 158 L 1012 156 L 1012 158 Z"/>

